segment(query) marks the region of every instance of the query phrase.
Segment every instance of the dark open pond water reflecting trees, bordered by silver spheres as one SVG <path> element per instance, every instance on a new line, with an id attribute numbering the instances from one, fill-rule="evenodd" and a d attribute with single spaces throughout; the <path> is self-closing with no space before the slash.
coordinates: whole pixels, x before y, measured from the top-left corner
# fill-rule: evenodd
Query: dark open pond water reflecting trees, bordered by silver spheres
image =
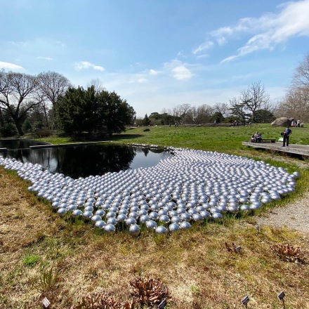
<path id="1" fill-rule="evenodd" d="M 88 145 L 55 147 L 37 150 L 8 150 L 3 157 L 20 162 L 40 164 L 51 172 L 63 173 L 72 178 L 103 175 L 107 172 L 125 171 L 155 166 L 169 152 L 119 145 Z"/>

